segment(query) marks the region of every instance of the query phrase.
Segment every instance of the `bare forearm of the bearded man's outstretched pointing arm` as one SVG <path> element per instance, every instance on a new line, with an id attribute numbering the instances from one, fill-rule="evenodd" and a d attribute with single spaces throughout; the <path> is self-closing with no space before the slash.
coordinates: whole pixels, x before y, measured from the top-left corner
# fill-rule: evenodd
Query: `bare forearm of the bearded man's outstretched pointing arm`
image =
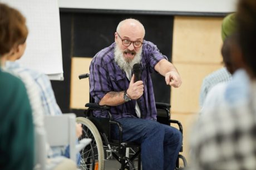
<path id="1" fill-rule="evenodd" d="M 165 76 L 166 73 L 168 73 L 169 71 L 177 71 L 177 69 L 175 68 L 175 66 L 173 64 L 171 64 L 168 60 L 162 59 L 160 60 L 156 65 L 155 65 L 155 70 Z"/>

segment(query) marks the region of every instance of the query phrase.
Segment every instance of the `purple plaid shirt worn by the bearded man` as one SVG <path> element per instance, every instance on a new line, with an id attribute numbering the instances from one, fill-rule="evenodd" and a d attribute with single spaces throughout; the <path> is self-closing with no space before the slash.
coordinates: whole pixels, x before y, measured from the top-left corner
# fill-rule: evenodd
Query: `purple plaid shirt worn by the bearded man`
<path id="1" fill-rule="evenodd" d="M 113 43 L 102 49 L 92 59 L 90 65 L 90 93 L 95 102 L 99 102 L 110 91 L 124 91 L 129 87 L 130 80 L 127 79 L 125 71 L 121 70 L 115 63 L 115 45 Z M 156 45 L 146 40 L 144 40 L 141 55 L 141 80 L 144 84 L 144 93 L 138 99 L 141 103 L 141 118 L 156 120 L 155 96 L 150 74 L 155 71 L 154 66 L 161 59 L 167 58 L 160 53 Z M 117 120 L 121 117 L 137 117 L 135 104 L 136 100 L 131 100 L 122 105 L 112 106 L 112 118 Z M 105 111 L 95 111 L 93 114 L 97 117 L 108 115 Z"/>

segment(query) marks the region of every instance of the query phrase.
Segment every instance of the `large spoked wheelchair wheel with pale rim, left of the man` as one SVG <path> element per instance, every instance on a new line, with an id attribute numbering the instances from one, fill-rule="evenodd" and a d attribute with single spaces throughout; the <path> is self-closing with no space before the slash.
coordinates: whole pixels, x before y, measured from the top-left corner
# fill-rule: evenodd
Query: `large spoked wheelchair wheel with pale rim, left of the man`
<path id="1" fill-rule="evenodd" d="M 77 117 L 77 123 L 82 124 L 82 138 L 91 138 L 90 145 L 83 148 L 81 151 L 81 169 L 104 169 L 104 148 L 99 131 L 95 125 L 85 117 Z"/>

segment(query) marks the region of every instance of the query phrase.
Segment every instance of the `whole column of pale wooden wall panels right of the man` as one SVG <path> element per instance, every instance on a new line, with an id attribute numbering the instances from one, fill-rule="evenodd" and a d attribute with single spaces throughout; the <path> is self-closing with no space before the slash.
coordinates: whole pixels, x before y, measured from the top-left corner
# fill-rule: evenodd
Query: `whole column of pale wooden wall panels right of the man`
<path id="1" fill-rule="evenodd" d="M 171 118 L 184 128 L 184 152 L 189 160 L 190 130 L 198 118 L 199 93 L 206 75 L 222 67 L 221 22 L 223 18 L 175 17 L 173 64 L 183 84 L 171 89 Z"/>

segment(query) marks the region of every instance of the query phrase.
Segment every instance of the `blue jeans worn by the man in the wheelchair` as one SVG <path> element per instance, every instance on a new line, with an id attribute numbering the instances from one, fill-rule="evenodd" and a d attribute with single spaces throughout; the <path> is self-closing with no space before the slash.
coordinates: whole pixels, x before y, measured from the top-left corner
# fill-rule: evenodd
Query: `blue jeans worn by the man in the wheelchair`
<path id="1" fill-rule="evenodd" d="M 123 127 L 124 142 L 141 145 L 142 168 L 173 170 L 181 148 L 182 134 L 174 127 L 153 120 L 124 117 L 116 120 Z M 119 138 L 119 130 L 111 129 L 112 137 Z"/>

